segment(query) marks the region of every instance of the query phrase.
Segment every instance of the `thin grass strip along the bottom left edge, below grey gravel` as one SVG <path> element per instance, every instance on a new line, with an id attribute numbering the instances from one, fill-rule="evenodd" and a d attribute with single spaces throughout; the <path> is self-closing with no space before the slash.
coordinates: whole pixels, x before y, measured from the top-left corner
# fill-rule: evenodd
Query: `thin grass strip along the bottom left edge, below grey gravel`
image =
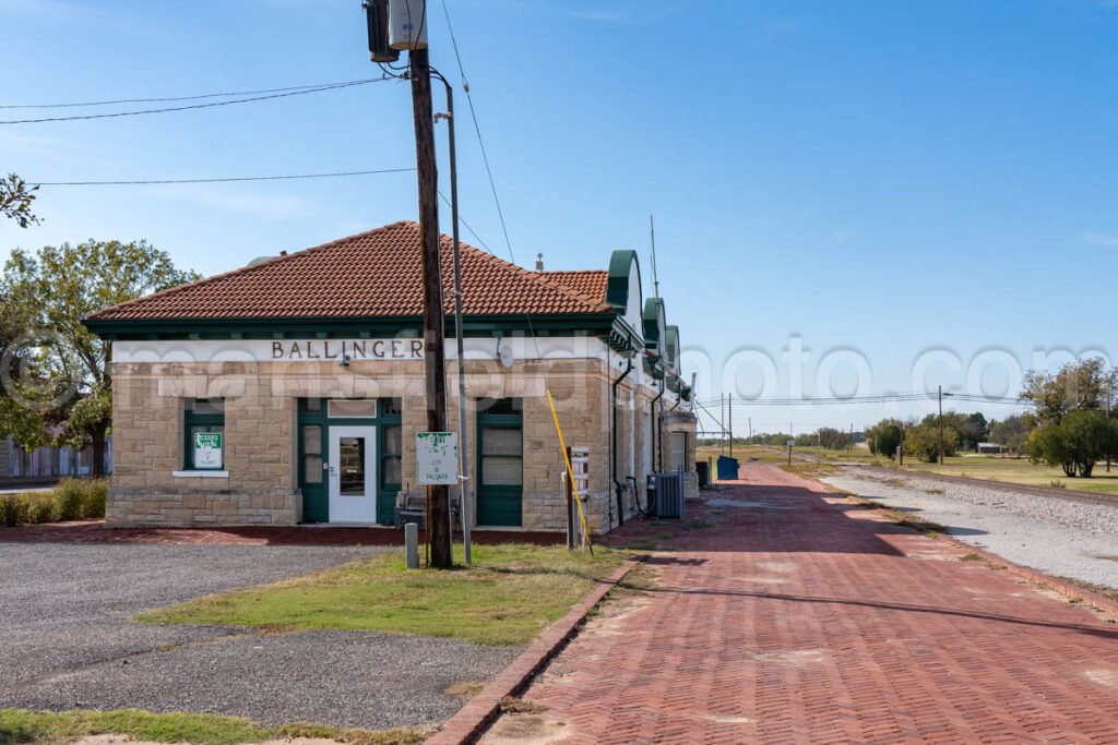
<path id="1" fill-rule="evenodd" d="M 87 735 L 129 735 L 155 743 L 237 745 L 266 739 L 322 737 L 354 745 L 409 745 L 424 739 L 407 729 L 369 732 L 325 725 L 293 724 L 266 727 L 252 719 L 214 714 L 152 714 L 140 709 L 112 711 L 30 711 L 0 709 L 0 745 L 67 743 Z"/>

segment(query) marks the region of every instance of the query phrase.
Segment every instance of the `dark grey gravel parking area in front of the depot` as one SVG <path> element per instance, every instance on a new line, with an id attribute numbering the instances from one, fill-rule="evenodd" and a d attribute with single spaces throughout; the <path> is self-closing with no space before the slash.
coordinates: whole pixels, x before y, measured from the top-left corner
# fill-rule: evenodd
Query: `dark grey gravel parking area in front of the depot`
<path id="1" fill-rule="evenodd" d="M 386 728 L 445 719 L 444 688 L 518 649 L 382 633 L 154 627 L 127 617 L 377 548 L 0 544 L 0 708 L 139 707 Z"/>

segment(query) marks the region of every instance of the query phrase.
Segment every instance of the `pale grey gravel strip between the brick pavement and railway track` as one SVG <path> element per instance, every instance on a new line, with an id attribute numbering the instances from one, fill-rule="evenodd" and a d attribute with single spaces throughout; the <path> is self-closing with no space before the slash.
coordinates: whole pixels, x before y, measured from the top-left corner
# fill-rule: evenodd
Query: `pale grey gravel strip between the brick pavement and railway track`
<path id="1" fill-rule="evenodd" d="M 901 474 L 879 478 L 858 468 L 822 480 L 947 526 L 1011 562 L 1118 591 L 1118 507 Z"/>

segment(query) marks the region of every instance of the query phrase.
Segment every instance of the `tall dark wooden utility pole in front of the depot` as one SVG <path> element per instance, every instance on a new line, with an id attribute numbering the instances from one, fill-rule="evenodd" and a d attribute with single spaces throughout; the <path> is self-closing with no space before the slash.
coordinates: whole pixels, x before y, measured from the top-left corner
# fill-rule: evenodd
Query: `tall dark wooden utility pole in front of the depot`
<path id="1" fill-rule="evenodd" d="M 447 431 L 446 327 L 443 273 L 439 266 L 438 169 L 435 163 L 435 121 L 430 99 L 430 57 L 427 49 L 408 51 L 411 107 L 416 126 L 416 173 L 419 182 L 419 240 L 423 246 L 424 378 L 427 393 L 427 431 Z M 463 447 L 459 443 L 458 447 Z M 451 569 L 451 499 L 446 486 L 428 486 L 427 546 L 430 565 Z"/>

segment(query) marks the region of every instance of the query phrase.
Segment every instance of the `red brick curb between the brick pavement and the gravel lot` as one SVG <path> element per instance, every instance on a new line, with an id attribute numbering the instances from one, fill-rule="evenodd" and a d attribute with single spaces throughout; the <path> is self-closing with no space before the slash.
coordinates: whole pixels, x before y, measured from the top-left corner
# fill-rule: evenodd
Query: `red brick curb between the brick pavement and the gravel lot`
<path id="1" fill-rule="evenodd" d="M 465 745 L 473 743 L 500 716 L 501 699 L 515 696 L 528 687 L 532 677 L 551 661 L 578 632 L 595 605 L 633 571 L 642 560 L 629 560 L 606 580 L 598 583 L 566 615 L 549 625 L 532 644 L 474 696 L 443 727 L 428 737 L 427 745 Z"/>

